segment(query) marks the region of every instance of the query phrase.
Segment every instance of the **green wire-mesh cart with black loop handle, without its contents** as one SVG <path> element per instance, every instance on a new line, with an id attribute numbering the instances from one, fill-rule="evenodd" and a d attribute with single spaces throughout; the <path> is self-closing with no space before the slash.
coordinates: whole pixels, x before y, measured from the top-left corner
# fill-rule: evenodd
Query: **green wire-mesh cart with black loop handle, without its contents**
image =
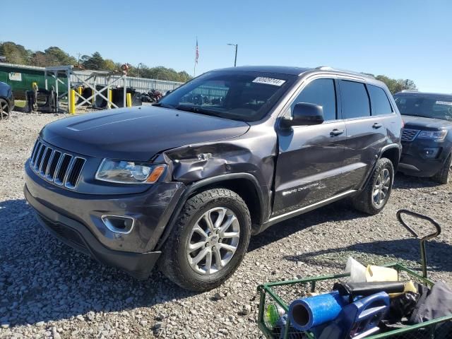
<path id="1" fill-rule="evenodd" d="M 410 215 L 415 218 L 427 220 L 436 227 L 436 232 L 420 238 L 410 226 L 403 220 L 402 215 Z M 425 242 L 433 239 L 441 233 L 441 227 L 431 218 L 413 213 L 408 210 L 399 210 L 397 218 L 409 232 L 420 239 L 422 275 L 400 263 L 390 263 L 384 265 L 394 268 L 398 272 L 398 280 L 412 280 L 413 283 L 421 283 L 432 287 L 434 282 L 427 278 L 427 261 L 425 253 Z M 335 283 L 347 282 L 350 273 L 338 275 L 323 275 L 314 278 L 304 278 L 300 280 L 287 280 L 275 283 L 266 283 L 258 286 L 260 297 L 258 312 L 258 327 L 266 338 L 280 339 L 316 339 L 312 332 L 300 332 L 290 326 L 287 319 L 289 304 L 299 298 L 309 297 L 311 293 L 331 292 Z M 364 338 L 355 336 L 354 338 Z M 381 326 L 378 334 L 367 335 L 367 339 L 378 338 L 398 338 L 398 339 L 452 339 L 452 314 L 439 319 L 433 319 L 415 325 L 388 325 Z"/>

